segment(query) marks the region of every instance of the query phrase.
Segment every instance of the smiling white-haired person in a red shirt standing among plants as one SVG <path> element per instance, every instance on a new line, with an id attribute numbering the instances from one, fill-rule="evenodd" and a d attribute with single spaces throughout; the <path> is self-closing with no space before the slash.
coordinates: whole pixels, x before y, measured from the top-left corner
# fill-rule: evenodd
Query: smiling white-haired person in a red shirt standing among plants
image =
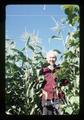
<path id="1" fill-rule="evenodd" d="M 59 67 L 55 64 L 57 60 L 57 53 L 49 51 L 46 57 L 49 63 L 48 67 L 41 69 L 40 74 L 44 75 L 44 82 L 42 85 L 41 104 L 43 115 L 60 115 L 62 112 L 59 109 L 59 96 L 57 89 L 57 76 L 56 72 Z"/>

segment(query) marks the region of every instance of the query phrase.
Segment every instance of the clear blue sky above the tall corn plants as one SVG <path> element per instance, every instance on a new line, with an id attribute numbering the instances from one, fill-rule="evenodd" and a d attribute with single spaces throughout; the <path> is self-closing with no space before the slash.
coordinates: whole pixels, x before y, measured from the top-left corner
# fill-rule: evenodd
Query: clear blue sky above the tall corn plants
<path id="1" fill-rule="evenodd" d="M 41 45 L 45 51 L 58 49 L 63 53 L 68 28 L 62 26 L 61 22 L 66 15 L 61 5 L 7 5 L 6 6 L 6 38 L 16 42 L 16 47 L 22 49 L 24 32 L 35 33 L 40 38 Z M 54 27 L 61 27 L 63 40 L 50 38 L 56 34 Z M 63 27 L 63 28 L 62 28 Z"/>

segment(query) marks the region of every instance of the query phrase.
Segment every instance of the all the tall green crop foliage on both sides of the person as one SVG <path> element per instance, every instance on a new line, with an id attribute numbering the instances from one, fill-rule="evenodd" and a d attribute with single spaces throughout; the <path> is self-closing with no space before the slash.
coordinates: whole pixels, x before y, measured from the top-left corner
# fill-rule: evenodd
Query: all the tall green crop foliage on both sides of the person
<path id="1" fill-rule="evenodd" d="M 79 85 L 80 85 L 80 21 L 79 7 L 77 5 L 64 5 L 63 10 L 67 15 L 66 22 L 72 27 L 76 24 L 75 31 L 67 34 L 65 52 L 61 56 L 61 69 L 58 73 L 59 80 L 67 78 L 70 82 L 63 87 L 67 103 L 61 105 L 64 115 L 79 113 Z M 5 112 L 8 115 L 40 115 L 40 92 L 44 77 L 39 76 L 42 66 L 47 66 L 42 46 L 36 36 L 25 34 L 25 46 L 19 50 L 15 42 L 6 39 L 5 47 Z M 51 36 L 54 39 L 56 35 Z M 60 37 L 60 36 L 59 36 Z M 27 51 L 31 51 L 31 57 Z M 57 51 L 59 53 L 59 51 Z"/>

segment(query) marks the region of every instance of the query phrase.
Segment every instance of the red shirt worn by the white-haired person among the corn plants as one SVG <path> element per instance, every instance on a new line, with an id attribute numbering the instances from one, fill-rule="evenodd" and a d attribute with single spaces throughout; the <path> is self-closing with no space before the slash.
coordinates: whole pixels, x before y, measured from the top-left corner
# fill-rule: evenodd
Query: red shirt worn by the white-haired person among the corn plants
<path id="1" fill-rule="evenodd" d="M 44 75 L 45 82 L 42 89 L 47 92 L 47 99 L 58 98 L 56 91 L 57 78 L 53 76 L 53 72 L 48 67 L 43 68 L 42 73 Z M 44 96 L 42 96 L 42 99 L 44 99 Z"/>

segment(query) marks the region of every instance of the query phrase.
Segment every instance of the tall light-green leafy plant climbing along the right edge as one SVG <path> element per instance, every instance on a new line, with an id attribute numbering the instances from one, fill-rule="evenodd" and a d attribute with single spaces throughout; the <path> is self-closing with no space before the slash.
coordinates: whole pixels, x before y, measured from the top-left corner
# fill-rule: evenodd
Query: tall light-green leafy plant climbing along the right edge
<path id="1" fill-rule="evenodd" d="M 63 61 L 61 70 L 59 71 L 59 79 L 66 78 L 70 81 L 68 86 L 63 87 L 65 91 L 67 104 L 62 106 L 63 114 L 79 113 L 79 82 L 80 82 L 80 40 L 79 40 L 79 6 L 65 5 L 64 12 L 67 15 L 66 22 L 75 27 L 75 30 L 69 32 L 67 41 L 65 42 L 66 50 L 63 53 Z"/>

